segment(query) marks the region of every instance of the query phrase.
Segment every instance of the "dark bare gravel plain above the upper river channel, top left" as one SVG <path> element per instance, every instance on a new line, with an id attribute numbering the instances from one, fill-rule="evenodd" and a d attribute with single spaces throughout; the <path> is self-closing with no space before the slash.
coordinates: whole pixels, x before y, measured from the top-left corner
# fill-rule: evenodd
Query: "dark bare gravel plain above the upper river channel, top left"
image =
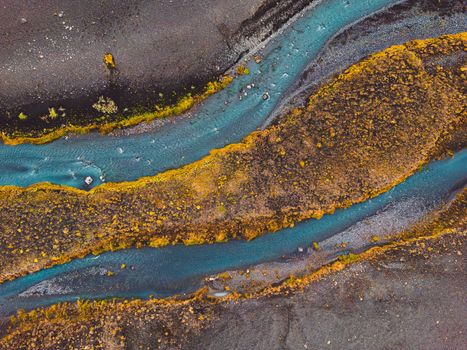
<path id="1" fill-rule="evenodd" d="M 0 128 L 86 124 L 98 116 L 91 105 L 99 96 L 116 102 L 119 117 L 172 103 L 216 79 L 311 1 L 2 1 Z M 49 107 L 64 107 L 66 119 L 38 118 Z"/>

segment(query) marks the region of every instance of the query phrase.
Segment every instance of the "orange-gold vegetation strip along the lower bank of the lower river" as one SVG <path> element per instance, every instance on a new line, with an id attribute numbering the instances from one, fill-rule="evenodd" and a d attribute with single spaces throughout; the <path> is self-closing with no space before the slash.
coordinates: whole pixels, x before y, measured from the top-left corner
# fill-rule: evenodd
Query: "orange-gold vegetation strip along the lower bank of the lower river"
<path id="1" fill-rule="evenodd" d="M 401 256 L 421 255 L 427 258 L 431 254 L 452 249 L 449 242 L 454 244 L 456 238 L 466 234 L 466 194 L 464 189 L 448 206 L 397 235 L 395 242 L 373 247 L 358 255 L 342 257 L 310 274 L 291 277 L 281 285 L 268 287 L 259 293 L 231 294 L 224 299 L 211 299 L 207 291 L 201 289 L 186 300 L 78 301 L 30 312 L 19 310 L 11 317 L 6 335 L 0 339 L 0 349 L 99 349 L 109 348 L 110 345 L 113 348 L 136 347 L 137 344 L 148 345 L 149 348 L 154 348 L 155 344 L 177 348 L 222 317 L 226 302 L 241 303 L 251 298 L 261 300 L 297 293 L 350 264 L 391 259 L 400 261 Z M 63 329 L 67 331 L 63 332 Z M 4 334 L 5 331 L 4 328 Z"/>

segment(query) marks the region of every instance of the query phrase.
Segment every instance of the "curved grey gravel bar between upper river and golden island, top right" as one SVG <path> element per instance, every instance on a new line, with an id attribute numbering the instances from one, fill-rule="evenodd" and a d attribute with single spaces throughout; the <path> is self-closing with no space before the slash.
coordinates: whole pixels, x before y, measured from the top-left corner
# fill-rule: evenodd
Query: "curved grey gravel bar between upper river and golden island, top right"
<path id="1" fill-rule="evenodd" d="M 463 0 L 407 0 L 355 23 L 334 36 L 284 94 L 264 126 L 284 109 L 302 106 L 320 85 L 361 59 L 392 45 L 467 31 Z"/>

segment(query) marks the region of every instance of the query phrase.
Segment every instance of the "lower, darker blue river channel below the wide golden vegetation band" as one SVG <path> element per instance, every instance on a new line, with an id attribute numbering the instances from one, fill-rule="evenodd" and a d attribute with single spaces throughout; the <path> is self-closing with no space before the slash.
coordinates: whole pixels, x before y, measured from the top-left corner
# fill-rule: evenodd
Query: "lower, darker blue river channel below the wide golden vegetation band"
<path id="1" fill-rule="evenodd" d="M 77 298 L 165 297 L 190 292 L 199 287 L 206 275 L 280 259 L 296 252 L 298 247 L 342 232 L 391 203 L 416 198 L 434 207 L 466 181 L 467 150 L 464 150 L 454 158 L 432 163 L 372 200 L 250 242 L 127 249 L 76 259 L 0 285 L 0 314 Z M 124 270 L 120 270 L 122 263 L 127 265 Z M 115 275 L 108 277 L 105 273 L 108 270 Z M 29 288 L 38 290 L 38 286 L 46 285 L 48 291 L 43 295 L 19 296 Z"/>

